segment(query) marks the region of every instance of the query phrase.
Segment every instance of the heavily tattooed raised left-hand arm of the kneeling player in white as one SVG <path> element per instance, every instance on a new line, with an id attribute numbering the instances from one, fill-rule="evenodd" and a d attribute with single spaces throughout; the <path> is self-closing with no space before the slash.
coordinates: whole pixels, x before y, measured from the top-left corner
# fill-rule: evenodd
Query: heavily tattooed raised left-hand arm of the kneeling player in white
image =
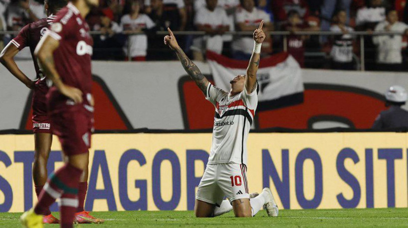
<path id="1" fill-rule="evenodd" d="M 186 53 L 184 53 L 184 51 L 180 48 L 172 30 L 170 30 L 170 28 L 167 28 L 167 30 L 169 31 L 169 35 L 165 36 L 164 38 L 165 45 L 168 45 L 176 52 L 177 57 L 179 57 L 179 60 L 184 67 L 184 70 L 186 70 L 189 76 L 196 81 L 197 86 L 199 86 L 204 95 L 206 95 L 206 88 L 209 83 L 207 78 L 205 78 L 196 64 L 194 64 L 193 61 L 191 61 L 189 57 L 187 57 Z"/>

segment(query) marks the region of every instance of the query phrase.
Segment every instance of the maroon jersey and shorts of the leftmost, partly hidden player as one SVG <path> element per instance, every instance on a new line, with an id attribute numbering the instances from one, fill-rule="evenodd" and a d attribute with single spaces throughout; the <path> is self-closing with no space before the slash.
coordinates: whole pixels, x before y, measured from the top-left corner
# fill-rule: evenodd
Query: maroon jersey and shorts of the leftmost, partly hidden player
<path id="1" fill-rule="evenodd" d="M 32 129 L 34 133 L 49 133 L 51 134 L 51 121 L 47 115 L 47 105 L 45 95 L 48 92 L 45 77 L 38 66 L 37 58 L 34 56 L 34 50 L 38 42 L 48 30 L 54 15 L 47 18 L 42 18 L 24 26 L 18 35 L 10 42 L 15 45 L 18 50 L 25 47 L 30 48 L 32 61 L 34 62 L 34 69 L 37 81 L 33 88 L 33 96 L 31 101 L 32 106 Z"/>

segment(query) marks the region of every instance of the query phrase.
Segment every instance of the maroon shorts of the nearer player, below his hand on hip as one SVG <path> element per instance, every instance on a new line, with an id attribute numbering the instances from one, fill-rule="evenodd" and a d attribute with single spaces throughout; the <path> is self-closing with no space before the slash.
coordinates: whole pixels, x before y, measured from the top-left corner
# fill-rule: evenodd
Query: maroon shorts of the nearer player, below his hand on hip
<path id="1" fill-rule="evenodd" d="M 93 132 L 93 113 L 82 104 L 67 105 L 66 108 L 53 110 L 50 114 L 52 132 L 58 136 L 62 151 L 66 155 L 88 152 Z"/>

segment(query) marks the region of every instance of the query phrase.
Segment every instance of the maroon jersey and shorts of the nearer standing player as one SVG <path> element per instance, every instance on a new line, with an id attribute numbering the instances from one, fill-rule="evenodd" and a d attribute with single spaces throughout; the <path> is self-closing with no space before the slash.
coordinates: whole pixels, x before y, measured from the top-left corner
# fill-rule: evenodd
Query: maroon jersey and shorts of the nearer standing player
<path id="1" fill-rule="evenodd" d="M 83 93 L 83 102 L 75 104 L 55 86 L 49 89 L 47 100 L 53 134 L 58 136 L 65 154 L 85 153 L 90 148 L 93 131 L 93 42 L 89 27 L 79 10 L 72 3 L 68 3 L 57 13 L 48 35 L 59 41 L 59 47 L 54 51 L 54 62 L 61 80 Z"/>

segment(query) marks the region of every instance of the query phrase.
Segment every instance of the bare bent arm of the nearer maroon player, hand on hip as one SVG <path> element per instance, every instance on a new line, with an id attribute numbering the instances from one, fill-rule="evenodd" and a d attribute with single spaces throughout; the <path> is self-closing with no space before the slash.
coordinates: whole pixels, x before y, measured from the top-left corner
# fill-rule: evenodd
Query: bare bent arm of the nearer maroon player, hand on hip
<path id="1" fill-rule="evenodd" d="M 35 48 L 34 54 L 44 69 L 45 75 L 52 81 L 53 85 L 55 85 L 62 94 L 71 98 L 75 103 L 82 103 L 81 90 L 65 85 L 55 69 L 54 57 L 52 54 L 58 46 L 58 40 L 50 35 L 45 35 Z"/>

